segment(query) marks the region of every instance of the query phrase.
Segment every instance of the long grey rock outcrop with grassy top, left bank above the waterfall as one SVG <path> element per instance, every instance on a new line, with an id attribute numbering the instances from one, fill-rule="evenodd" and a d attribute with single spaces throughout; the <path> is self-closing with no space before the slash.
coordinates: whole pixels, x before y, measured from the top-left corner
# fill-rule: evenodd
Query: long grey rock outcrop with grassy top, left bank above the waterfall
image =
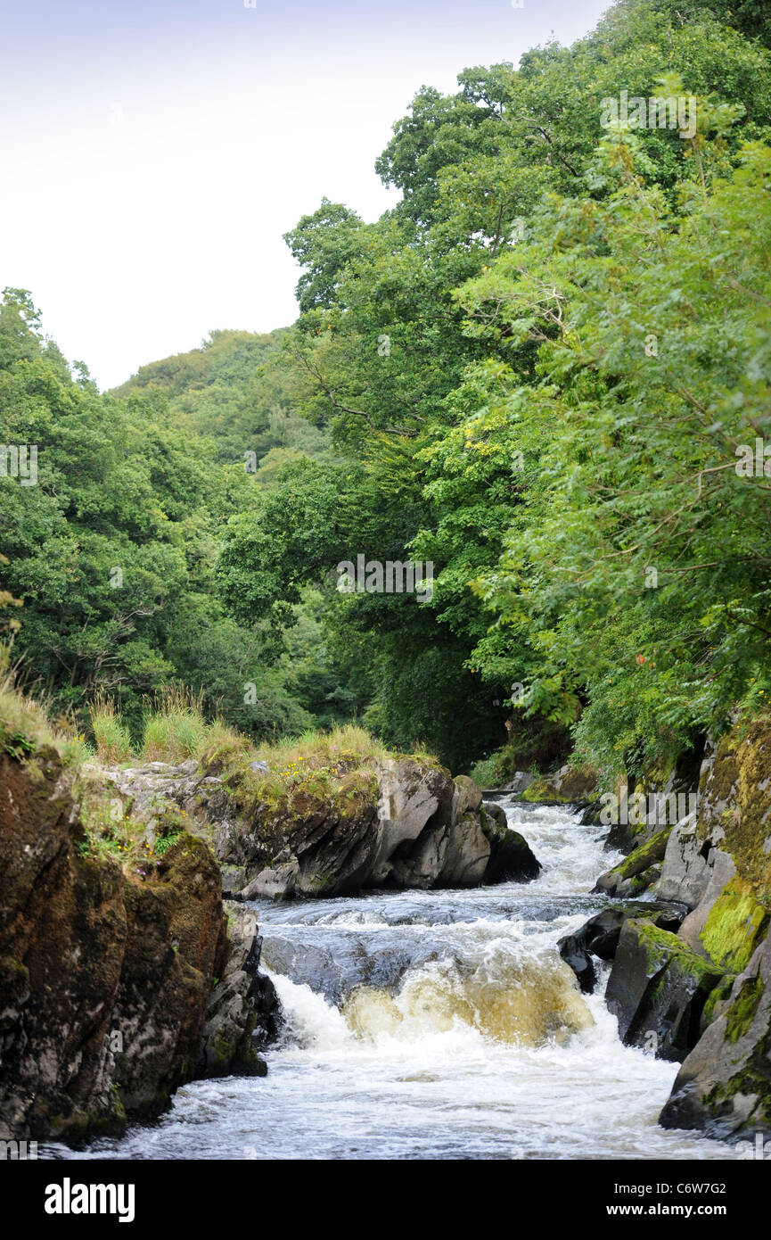
<path id="1" fill-rule="evenodd" d="M 529 880 L 540 866 L 527 843 L 482 806 L 467 776 L 412 758 L 373 763 L 350 800 L 301 789 L 289 800 L 244 796 L 227 777 L 180 768 L 114 771 L 143 812 L 174 801 L 191 830 L 211 842 L 226 894 L 335 897 L 362 888 L 472 887 Z M 367 786 L 369 780 L 369 786 Z M 502 811 L 498 811 L 502 812 Z"/>

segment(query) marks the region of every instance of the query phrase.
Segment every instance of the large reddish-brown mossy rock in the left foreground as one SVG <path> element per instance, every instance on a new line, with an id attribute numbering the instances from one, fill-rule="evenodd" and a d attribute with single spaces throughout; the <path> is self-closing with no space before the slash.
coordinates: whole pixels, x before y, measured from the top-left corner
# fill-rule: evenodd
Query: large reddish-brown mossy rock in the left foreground
<path id="1" fill-rule="evenodd" d="M 120 1131 L 196 1075 L 229 977 L 219 870 L 185 831 L 149 858 L 92 854 L 55 750 L 0 755 L 2 1136 Z"/>

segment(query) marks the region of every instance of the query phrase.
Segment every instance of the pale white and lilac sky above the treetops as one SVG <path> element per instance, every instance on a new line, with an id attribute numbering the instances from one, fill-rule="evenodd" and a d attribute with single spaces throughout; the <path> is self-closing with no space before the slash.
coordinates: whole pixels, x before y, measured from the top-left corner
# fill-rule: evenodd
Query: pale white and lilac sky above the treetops
<path id="1" fill-rule="evenodd" d="M 517 0 L 518 2 L 518 0 Z M 610 0 L 0 0 L 0 288 L 100 388 L 297 312 L 283 233 L 376 219 L 421 86 L 571 43 Z"/>

